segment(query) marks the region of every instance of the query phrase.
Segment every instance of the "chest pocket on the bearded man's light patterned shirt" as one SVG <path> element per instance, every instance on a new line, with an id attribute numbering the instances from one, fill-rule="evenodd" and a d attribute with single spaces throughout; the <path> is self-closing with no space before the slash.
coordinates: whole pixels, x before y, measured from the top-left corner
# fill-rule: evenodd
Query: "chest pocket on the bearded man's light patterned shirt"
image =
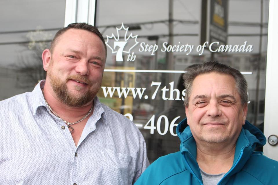
<path id="1" fill-rule="evenodd" d="M 134 176 L 132 157 L 126 153 L 103 148 L 103 182 L 106 184 L 131 184 Z"/>

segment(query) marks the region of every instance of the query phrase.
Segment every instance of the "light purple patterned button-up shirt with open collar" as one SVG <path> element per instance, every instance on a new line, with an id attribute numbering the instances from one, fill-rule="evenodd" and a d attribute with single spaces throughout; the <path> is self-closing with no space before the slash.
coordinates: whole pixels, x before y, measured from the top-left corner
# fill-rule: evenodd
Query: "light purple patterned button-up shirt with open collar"
<path id="1" fill-rule="evenodd" d="M 96 97 L 75 146 L 45 104 L 44 83 L 0 101 L 0 184 L 133 184 L 149 165 L 136 125 Z"/>

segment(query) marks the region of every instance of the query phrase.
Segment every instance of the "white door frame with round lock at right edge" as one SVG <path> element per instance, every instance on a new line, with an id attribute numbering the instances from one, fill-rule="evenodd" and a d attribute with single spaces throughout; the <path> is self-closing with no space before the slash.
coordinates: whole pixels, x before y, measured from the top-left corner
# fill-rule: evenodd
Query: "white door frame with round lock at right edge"
<path id="1" fill-rule="evenodd" d="M 272 134 L 278 136 L 278 1 L 269 0 L 268 15 L 268 43 L 266 60 L 266 99 L 264 112 L 264 135 L 266 139 Z M 278 160 L 278 145 L 271 146 L 268 142 L 264 146 L 264 154 Z"/>

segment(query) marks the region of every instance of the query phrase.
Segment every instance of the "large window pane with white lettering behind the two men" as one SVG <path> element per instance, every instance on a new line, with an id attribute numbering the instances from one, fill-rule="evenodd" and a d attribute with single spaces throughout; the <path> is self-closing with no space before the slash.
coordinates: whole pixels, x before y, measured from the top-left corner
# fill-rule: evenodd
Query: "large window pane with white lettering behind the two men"
<path id="1" fill-rule="evenodd" d="M 105 72 L 98 96 L 112 109 L 129 115 L 138 125 L 147 143 L 150 162 L 179 151 L 175 124 L 186 117 L 182 73 L 116 70 L 183 71 L 193 64 L 217 60 L 241 72 L 251 72 L 244 75 L 250 99 L 247 119 L 259 127 L 263 124 L 269 2 L 262 1 L 261 5 L 260 0 L 222 0 L 223 4 L 211 1 L 213 6 L 202 9 L 204 2 L 98 1 L 96 25 L 106 40 L 108 38 L 106 69 L 112 71 Z M 249 45 L 250 52 L 208 49 L 213 40 L 202 41 L 201 38 L 201 28 L 208 26 L 204 21 L 207 19 L 202 21 L 202 17 L 211 15 L 202 14 L 205 10 L 214 11 L 211 19 L 226 29 L 223 34 L 216 32 L 214 38 L 211 33 L 211 38 L 226 39 L 225 45 L 238 45 L 238 49 L 246 50 Z M 201 53 L 197 46 L 204 41 L 210 43 Z"/>

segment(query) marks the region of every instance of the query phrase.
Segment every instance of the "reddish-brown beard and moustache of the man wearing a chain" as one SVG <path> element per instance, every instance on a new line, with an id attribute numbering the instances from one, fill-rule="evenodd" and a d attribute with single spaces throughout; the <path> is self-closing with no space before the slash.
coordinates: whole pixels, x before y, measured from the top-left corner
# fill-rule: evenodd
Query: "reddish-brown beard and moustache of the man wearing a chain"
<path id="1" fill-rule="evenodd" d="M 94 99 L 94 97 L 96 96 L 96 94 L 98 93 L 98 90 L 100 88 L 100 85 L 99 85 L 96 89 L 88 90 L 84 94 L 81 94 L 81 93 L 73 94 L 73 93 L 69 92 L 67 85 L 66 85 L 66 82 L 69 79 L 75 79 L 78 81 L 85 82 L 89 86 L 92 85 L 92 82 L 89 81 L 89 79 L 87 77 L 81 76 L 81 75 L 71 75 L 66 79 L 65 82 L 63 82 L 61 79 L 59 79 L 58 77 L 51 75 L 51 74 L 49 74 L 49 77 L 50 77 L 50 84 L 52 86 L 52 89 L 54 90 L 58 99 L 70 107 L 81 107 L 81 106 L 85 105 L 86 103 L 88 103 L 89 101 L 92 101 Z M 75 88 L 77 91 L 80 91 L 82 89 L 82 87 L 80 87 L 80 86 L 76 86 Z"/>

